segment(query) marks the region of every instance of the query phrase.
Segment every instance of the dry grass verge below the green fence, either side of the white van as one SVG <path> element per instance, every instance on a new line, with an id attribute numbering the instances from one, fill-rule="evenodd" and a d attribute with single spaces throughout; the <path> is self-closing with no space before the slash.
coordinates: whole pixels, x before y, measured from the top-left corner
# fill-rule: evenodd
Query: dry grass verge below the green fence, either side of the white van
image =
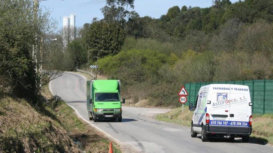
<path id="1" fill-rule="evenodd" d="M 190 127 L 192 115 L 193 112 L 190 112 L 188 107 L 184 108 L 184 112 L 182 112 L 182 108 L 180 107 L 168 113 L 159 114 L 155 119 Z M 268 143 L 273 145 L 273 114 L 253 114 L 252 116 L 253 131 L 250 135 L 251 139 L 260 144 Z"/>

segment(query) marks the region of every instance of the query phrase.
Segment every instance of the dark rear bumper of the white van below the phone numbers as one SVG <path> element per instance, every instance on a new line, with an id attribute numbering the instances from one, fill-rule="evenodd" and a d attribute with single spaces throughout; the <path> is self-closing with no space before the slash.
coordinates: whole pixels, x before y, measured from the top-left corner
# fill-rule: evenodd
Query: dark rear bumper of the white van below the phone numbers
<path id="1" fill-rule="evenodd" d="M 252 127 L 203 125 L 205 134 L 250 135 Z"/>

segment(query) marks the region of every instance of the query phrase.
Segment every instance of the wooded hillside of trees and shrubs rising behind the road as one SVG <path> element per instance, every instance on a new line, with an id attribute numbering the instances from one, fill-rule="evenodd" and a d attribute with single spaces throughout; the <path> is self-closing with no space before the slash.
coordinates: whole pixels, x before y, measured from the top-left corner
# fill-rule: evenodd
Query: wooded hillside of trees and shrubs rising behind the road
<path id="1" fill-rule="evenodd" d="M 121 80 L 130 103 L 176 107 L 184 83 L 273 79 L 273 1 L 173 6 L 159 19 L 127 11 L 133 2 L 107 0 L 105 18 L 86 23 L 77 40 L 90 61 L 98 55 L 101 74 Z M 70 67 L 87 59 L 80 63 Z"/>

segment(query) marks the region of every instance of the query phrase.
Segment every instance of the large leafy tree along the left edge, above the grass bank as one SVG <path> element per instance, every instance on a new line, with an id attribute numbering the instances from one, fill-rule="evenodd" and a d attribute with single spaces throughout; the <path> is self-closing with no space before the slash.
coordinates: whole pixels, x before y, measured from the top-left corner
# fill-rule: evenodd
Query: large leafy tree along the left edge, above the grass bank
<path id="1" fill-rule="evenodd" d="M 0 94 L 29 100 L 34 100 L 38 94 L 40 79 L 34 70 L 32 45 L 40 41 L 40 37 L 35 41 L 35 32 L 43 36 L 52 29 L 49 11 L 39 9 L 38 12 L 36 18 L 32 0 L 1 1 Z"/>

